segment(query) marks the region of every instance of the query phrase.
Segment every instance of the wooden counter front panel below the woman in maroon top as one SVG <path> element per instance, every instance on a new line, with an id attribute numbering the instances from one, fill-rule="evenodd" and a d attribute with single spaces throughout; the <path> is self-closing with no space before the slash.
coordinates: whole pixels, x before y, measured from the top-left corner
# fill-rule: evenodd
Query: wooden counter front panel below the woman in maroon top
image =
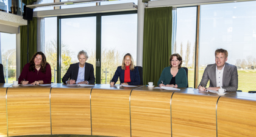
<path id="1" fill-rule="evenodd" d="M 50 135 L 49 87 L 9 87 L 7 113 L 9 136 Z"/>

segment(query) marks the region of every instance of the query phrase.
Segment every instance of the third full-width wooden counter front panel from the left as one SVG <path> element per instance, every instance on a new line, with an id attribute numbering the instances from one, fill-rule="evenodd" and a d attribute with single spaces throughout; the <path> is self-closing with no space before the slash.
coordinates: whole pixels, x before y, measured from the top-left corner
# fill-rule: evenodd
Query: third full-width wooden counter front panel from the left
<path id="1" fill-rule="evenodd" d="M 119 89 L 92 90 L 92 135 L 130 136 L 130 91 Z"/>

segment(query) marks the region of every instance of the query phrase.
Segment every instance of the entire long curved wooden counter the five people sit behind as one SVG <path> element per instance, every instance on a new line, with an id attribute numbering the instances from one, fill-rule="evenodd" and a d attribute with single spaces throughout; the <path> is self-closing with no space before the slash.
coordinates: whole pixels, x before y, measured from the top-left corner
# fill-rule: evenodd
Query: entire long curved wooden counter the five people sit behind
<path id="1" fill-rule="evenodd" d="M 252 93 L 0 84 L 0 136 L 256 136 L 255 108 Z"/>

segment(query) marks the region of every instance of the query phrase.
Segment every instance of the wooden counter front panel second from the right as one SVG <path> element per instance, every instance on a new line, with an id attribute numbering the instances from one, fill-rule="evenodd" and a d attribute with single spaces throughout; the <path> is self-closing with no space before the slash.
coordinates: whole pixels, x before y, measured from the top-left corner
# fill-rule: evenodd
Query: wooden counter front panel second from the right
<path id="1" fill-rule="evenodd" d="M 175 92 L 171 101 L 172 136 L 216 136 L 218 97 Z"/>

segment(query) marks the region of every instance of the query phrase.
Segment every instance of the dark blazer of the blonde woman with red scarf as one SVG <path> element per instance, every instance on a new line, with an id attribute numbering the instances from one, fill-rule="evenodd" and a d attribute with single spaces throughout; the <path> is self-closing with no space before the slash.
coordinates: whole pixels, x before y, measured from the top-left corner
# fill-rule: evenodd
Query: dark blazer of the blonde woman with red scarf
<path id="1" fill-rule="evenodd" d="M 118 81 L 118 77 L 121 83 L 124 82 L 124 70 L 121 66 L 116 69 L 115 75 L 112 78 L 112 82 Z M 138 67 L 134 67 L 134 70 L 130 70 L 130 82 L 127 82 L 128 85 L 140 85 L 140 74 L 138 73 Z"/>

